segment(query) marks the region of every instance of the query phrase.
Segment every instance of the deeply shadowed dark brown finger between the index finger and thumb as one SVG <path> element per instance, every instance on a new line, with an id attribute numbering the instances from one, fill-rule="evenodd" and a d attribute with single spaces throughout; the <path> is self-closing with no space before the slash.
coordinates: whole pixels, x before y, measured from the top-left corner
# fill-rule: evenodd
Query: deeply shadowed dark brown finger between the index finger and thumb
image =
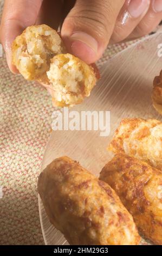
<path id="1" fill-rule="evenodd" d="M 44 0 L 42 2 L 36 25 L 46 24 L 57 30 L 62 20 L 63 1 L 60 0 Z"/>

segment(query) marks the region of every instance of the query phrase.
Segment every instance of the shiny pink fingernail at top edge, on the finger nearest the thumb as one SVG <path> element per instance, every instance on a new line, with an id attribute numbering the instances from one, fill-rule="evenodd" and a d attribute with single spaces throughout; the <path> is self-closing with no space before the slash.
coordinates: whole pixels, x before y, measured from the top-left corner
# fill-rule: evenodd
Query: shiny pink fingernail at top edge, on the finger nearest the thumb
<path id="1" fill-rule="evenodd" d="M 140 17 L 148 9 L 150 0 L 131 0 L 128 5 L 128 12 L 133 18 Z"/>

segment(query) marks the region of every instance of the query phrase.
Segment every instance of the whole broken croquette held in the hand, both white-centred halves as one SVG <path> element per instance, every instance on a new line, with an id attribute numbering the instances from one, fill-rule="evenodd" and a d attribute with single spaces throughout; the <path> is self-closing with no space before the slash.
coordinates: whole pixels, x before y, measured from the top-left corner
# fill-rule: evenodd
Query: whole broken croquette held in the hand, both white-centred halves
<path id="1" fill-rule="evenodd" d="M 60 35 L 47 25 L 28 27 L 17 36 L 12 63 L 25 79 L 47 87 L 58 107 L 81 103 L 99 78 L 93 65 L 67 53 Z"/>

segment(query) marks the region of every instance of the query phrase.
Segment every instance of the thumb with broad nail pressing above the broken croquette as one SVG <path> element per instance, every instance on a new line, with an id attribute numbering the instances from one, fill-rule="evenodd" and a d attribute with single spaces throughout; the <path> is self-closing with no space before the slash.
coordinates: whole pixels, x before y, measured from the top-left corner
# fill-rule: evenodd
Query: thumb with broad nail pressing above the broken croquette
<path id="1" fill-rule="evenodd" d="M 98 60 L 124 3 L 125 0 L 76 0 L 61 29 L 68 51 L 88 64 Z"/>

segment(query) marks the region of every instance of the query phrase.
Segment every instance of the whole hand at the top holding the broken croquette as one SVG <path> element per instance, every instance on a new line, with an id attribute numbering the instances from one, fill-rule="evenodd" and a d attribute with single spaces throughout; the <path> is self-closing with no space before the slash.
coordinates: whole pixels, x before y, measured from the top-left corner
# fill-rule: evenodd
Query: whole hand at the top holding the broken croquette
<path id="1" fill-rule="evenodd" d="M 93 63 L 109 42 L 134 39 L 153 31 L 162 18 L 162 0 L 5 0 L 0 40 L 9 68 L 11 44 L 31 25 L 57 29 L 68 51 Z"/>

